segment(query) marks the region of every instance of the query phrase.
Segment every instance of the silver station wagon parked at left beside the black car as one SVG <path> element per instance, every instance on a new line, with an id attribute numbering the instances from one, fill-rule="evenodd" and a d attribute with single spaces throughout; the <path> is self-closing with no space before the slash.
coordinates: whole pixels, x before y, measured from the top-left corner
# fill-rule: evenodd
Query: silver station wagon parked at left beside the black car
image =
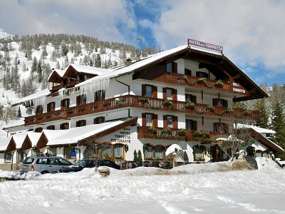
<path id="1" fill-rule="evenodd" d="M 58 173 L 58 170 L 73 165 L 70 161 L 58 156 L 30 156 L 21 165 L 20 173 L 38 171 L 41 174 Z"/>

